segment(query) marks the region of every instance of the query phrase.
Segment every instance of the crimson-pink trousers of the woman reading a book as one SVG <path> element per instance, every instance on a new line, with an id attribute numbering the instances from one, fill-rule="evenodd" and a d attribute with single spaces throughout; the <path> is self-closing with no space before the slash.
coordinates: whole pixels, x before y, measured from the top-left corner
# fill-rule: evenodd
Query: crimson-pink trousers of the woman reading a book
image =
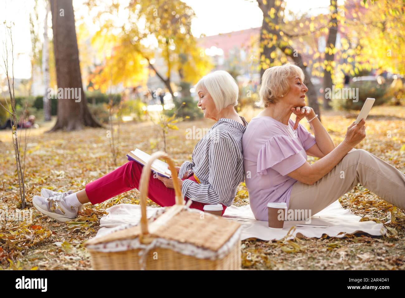
<path id="1" fill-rule="evenodd" d="M 131 189 L 139 189 L 139 181 L 141 180 L 142 169 L 143 165 L 137 163 L 136 161 L 128 161 L 128 163 L 122 165 L 114 171 L 86 184 L 85 189 L 87 197 L 94 205 L 111 199 L 120 193 L 130 191 Z M 186 179 L 196 182 L 193 174 L 188 176 Z M 175 204 L 175 190 L 172 188 L 167 188 L 158 178 L 153 178 L 152 172 L 149 179 L 147 197 L 162 207 L 173 206 Z M 188 200 L 189 198 L 185 197 L 185 201 L 187 202 Z M 203 211 L 204 205 L 207 204 L 193 201 L 190 208 Z M 223 204 L 222 206 L 224 207 L 222 210 L 223 215 L 226 206 Z"/>

